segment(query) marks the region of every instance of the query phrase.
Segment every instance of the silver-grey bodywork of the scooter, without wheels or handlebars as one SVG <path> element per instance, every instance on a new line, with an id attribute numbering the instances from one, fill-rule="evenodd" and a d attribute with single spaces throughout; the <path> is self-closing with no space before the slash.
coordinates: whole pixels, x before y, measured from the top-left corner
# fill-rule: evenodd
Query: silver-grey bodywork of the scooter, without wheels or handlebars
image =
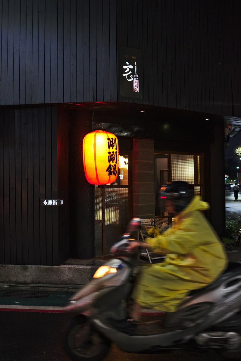
<path id="1" fill-rule="evenodd" d="M 219 322 L 241 309 L 241 263 L 226 272 L 214 284 L 192 292 L 172 313 L 166 329 L 148 335 L 132 335 L 111 325 L 109 318 L 124 318 L 126 300 L 132 288 L 132 266 L 118 258 L 106 262 L 117 272 L 93 279 L 73 297 L 67 310 L 89 315 L 90 322 L 119 348 L 130 353 L 158 353 L 167 348 L 181 348 L 200 332 L 211 330 Z M 94 311 L 90 312 L 91 309 Z M 241 330 L 241 325 L 240 325 Z"/>

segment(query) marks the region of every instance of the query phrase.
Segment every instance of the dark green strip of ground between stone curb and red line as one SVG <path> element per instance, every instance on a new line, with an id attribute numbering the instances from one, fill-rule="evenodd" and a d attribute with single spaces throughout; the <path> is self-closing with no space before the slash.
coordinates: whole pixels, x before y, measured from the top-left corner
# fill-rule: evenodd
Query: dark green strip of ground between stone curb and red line
<path id="1" fill-rule="evenodd" d="M 74 292 L 0 291 L 1 305 L 65 306 Z"/>

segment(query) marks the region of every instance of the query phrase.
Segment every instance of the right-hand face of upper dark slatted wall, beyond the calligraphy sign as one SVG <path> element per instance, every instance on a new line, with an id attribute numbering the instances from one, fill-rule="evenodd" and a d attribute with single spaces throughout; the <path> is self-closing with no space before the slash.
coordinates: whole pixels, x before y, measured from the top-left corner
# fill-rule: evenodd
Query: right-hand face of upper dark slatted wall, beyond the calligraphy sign
<path id="1" fill-rule="evenodd" d="M 117 44 L 143 52 L 140 103 L 241 116 L 239 0 L 122 0 L 117 14 Z"/>

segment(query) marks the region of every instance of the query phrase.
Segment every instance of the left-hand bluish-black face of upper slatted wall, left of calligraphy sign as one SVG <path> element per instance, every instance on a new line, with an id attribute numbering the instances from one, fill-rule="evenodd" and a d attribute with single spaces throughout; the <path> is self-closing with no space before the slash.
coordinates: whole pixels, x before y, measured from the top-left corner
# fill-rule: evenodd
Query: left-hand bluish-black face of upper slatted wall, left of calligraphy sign
<path id="1" fill-rule="evenodd" d="M 0 0 L 1 105 L 117 99 L 115 1 Z"/>

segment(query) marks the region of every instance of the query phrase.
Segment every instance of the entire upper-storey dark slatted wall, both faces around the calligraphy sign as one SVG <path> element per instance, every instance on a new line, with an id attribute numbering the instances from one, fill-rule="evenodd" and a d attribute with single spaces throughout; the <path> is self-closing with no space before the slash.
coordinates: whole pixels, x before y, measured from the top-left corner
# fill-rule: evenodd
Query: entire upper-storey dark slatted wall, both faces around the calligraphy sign
<path id="1" fill-rule="evenodd" d="M 1 105 L 83 101 L 241 116 L 240 0 L 0 0 Z M 143 99 L 117 95 L 117 48 Z"/>

